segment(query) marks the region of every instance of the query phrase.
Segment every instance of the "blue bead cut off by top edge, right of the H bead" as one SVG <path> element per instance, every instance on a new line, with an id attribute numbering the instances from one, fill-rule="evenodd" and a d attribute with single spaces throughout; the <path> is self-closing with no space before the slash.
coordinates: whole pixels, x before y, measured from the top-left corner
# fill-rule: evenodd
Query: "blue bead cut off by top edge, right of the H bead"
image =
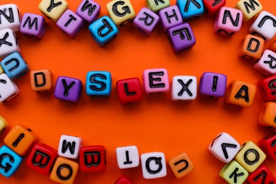
<path id="1" fill-rule="evenodd" d="M 176 4 L 184 21 L 190 18 L 200 17 L 204 13 L 202 0 L 177 0 Z"/>

